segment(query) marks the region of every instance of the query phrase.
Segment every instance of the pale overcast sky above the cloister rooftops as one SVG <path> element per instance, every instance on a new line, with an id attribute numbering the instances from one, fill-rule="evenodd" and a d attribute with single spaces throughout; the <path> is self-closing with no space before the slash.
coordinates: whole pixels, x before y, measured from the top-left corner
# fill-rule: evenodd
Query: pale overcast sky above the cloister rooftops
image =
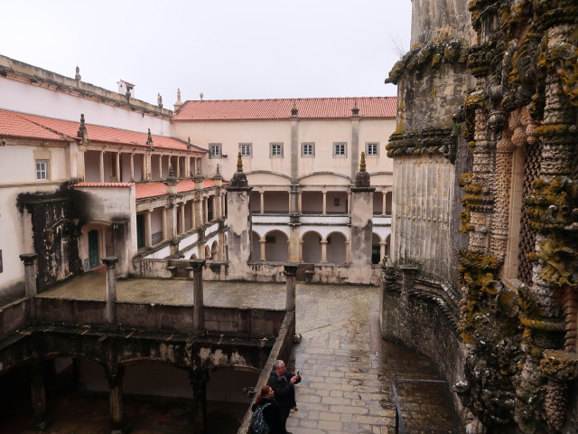
<path id="1" fill-rule="evenodd" d="M 0 53 L 172 109 L 182 100 L 395 96 L 410 0 L 0 2 Z M 1 96 L 0 96 L 1 98 Z"/>

